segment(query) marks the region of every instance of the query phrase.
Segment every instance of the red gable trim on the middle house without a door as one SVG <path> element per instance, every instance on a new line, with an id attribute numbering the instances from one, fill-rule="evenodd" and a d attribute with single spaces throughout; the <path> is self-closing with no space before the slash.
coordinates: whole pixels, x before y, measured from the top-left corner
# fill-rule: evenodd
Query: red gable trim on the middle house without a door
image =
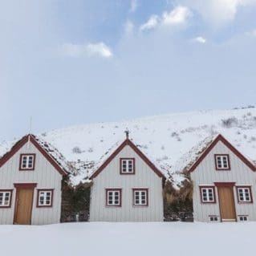
<path id="1" fill-rule="evenodd" d="M 120 144 L 118 148 L 116 148 L 116 151 L 113 152 L 112 155 L 109 156 L 106 161 L 104 161 L 103 165 L 101 165 L 100 168 L 97 169 L 95 173 L 91 175 L 90 179 L 93 179 L 96 176 L 98 176 L 98 174 L 101 173 L 108 166 L 108 164 L 118 155 L 118 153 L 127 145 L 130 146 L 140 156 L 140 158 L 144 160 L 144 162 L 152 169 L 153 172 L 156 173 L 157 176 L 165 177 L 164 174 L 161 173 L 161 171 L 157 169 L 154 164 L 152 164 L 152 161 L 150 161 L 148 157 L 145 156 L 144 153 L 141 152 L 140 149 L 137 148 L 136 145 L 133 144 L 131 140 L 127 139 L 127 140 L 124 140 L 124 142 Z"/>

